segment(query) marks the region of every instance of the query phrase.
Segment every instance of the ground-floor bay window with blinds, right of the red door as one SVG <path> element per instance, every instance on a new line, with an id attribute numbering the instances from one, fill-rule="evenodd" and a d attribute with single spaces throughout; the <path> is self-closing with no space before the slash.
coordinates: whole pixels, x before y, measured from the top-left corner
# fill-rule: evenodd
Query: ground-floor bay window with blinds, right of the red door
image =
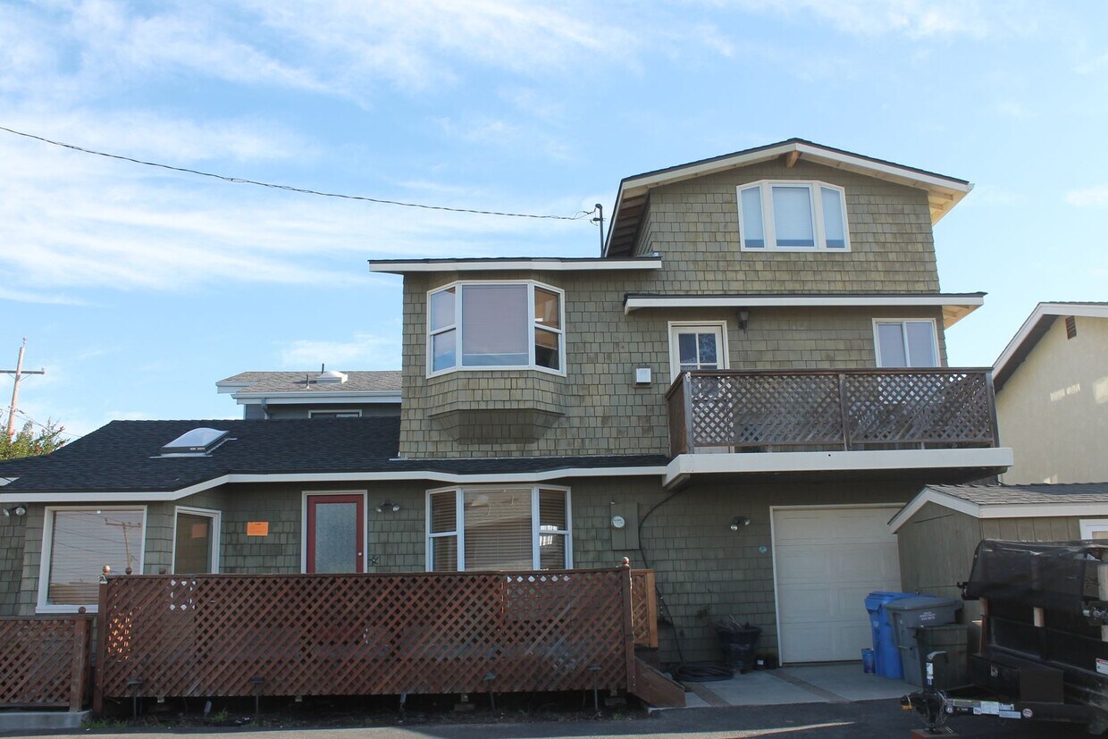
<path id="1" fill-rule="evenodd" d="M 572 566 L 570 491 L 465 487 L 428 493 L 431 572 Z"/>

